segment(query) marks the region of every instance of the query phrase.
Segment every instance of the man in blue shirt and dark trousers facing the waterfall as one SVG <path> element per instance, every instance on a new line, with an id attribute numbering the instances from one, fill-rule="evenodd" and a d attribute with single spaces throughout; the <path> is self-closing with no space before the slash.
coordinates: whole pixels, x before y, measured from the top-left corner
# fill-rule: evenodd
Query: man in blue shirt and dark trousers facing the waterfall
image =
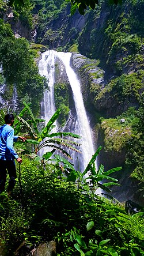
<path id="1" fill-rule="evenodd" d="M 12 128 L 14 123 L 14 116 L 12 114 L 5 115 L 5 125 L 0 127 L 0 193 L 5 190 L 6 174 L 9 174 L 9 186 L 7 191 L 12 191 L 16 183 L 16 165 L 14 159 L 18 163 L 22 163 L 22 159 L 18 157 L 13 148 L 13 142 L 18 138 L 25 141 L 26 138 L 21 136 L 14 136 Z M 7 172 L 6 172 L 7 170 Z"/>

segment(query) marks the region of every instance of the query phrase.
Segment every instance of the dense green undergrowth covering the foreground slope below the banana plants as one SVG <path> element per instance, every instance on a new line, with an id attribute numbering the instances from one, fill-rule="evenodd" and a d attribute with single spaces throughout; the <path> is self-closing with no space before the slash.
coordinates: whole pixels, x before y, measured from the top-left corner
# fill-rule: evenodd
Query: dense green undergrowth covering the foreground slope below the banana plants
<path id="1" fill-rule="evenodd" d="M 9 200 L 5 193 L 0 199 L 7 255 L 22 240 L 31 246 L 52 239 L 57 255 L 143 255 L 143 218 L 128 216 L 119 204 L 98 197 L 96 187 L 91 190 L 84 180 L 66 182 L 63 171 L 23 158 L 22 191 L 17 182 Z"/>

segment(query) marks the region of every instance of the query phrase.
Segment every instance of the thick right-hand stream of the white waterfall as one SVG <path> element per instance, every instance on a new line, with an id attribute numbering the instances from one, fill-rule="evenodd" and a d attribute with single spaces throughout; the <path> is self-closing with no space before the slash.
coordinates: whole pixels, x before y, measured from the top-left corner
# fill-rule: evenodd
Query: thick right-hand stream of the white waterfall
<path id="1" fill-rule="evenodd" d="M 90 159 L 92 158 L 92 155 L 94 154 L 94 148 L 93 148 L 93 140 L 92 140 L 92 131 L 90 129 L 88 116 L 86 115 L 84 102 L 82 99 L 81 85 L 78 81 L 76 74 L 74 73 L 74 70 L 70 66 L 71 53 L 56 52 L 56 56 L 65 65 L 67 77 L 69 78 L 71 89 L 73 91 L 75 110 L 77 112 L 77 121 L 75 122 L 74 133 L 78 133 L 79 135 L 82 136 L 81 152 L 82 152 L 83 160 L 81 161 L 81 164 L 85 169 L 86 165 L 88 165 Z M 79 156 L 79 158 L 80 157 L 81 156 Z"/>

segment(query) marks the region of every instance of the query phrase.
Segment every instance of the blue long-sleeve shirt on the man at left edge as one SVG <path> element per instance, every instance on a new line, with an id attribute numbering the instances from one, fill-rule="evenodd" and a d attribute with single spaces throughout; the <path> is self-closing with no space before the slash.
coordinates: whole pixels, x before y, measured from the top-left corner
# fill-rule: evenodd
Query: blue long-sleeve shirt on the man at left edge
<path id="1" fill-rule="evenodd" d="M 10 125 L 0 127 L 0 159 L 18 159 L 18 155 L 13 148 L 13 142 L 16 142 L 17 138 L 18 136 L 14 136 L 14 130 Z"/>

